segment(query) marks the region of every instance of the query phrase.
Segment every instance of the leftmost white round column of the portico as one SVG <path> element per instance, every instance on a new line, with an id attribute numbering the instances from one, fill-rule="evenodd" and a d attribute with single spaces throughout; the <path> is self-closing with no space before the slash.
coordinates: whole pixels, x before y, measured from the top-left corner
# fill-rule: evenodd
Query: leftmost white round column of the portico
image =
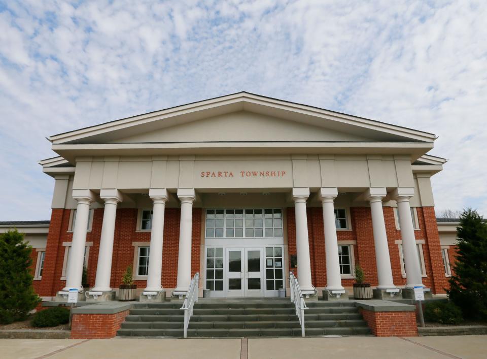
<path id="1" fill-rule="evenodd" d="M 89 189 L 74 189 L 73 198 L 78 202 L 78 205 L 76 206 L 73 243 L 69 250 L 69 260 L 67 262 L 66 286 L 63 291 L 67 291 L 69 288 L 82 290 L 81 278 L 83 276 L 83 258 L 85 256 L 90 204 L 95 201 L 95 196 Z"/>

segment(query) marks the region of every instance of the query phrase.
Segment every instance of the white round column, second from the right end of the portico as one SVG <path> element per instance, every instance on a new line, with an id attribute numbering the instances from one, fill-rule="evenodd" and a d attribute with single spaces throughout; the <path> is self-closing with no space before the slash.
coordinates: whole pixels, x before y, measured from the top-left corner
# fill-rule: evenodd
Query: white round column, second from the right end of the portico
<path id="1" fill-rule="evenodd" d="M 396 289 L 392 279 L 386 222 L 384 221 L 384 210 L 382 209 L 382 197 L 385 197 L 386 194 L 386 187 L 372 187 L 368 189 L 366 197 L 370 202 L 370 212 L 372 214 L 375 262 L 379 281 L 377 289 Z"/>

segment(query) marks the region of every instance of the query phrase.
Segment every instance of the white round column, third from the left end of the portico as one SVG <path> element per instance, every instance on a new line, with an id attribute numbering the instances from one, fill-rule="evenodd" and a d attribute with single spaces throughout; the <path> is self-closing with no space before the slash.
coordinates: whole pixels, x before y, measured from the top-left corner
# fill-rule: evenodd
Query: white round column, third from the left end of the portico
<path id="1" fill-rule="evenodd" d="M 165 188 L 149 189 L 149 197 L 154 202 L 152 209 L 151 244 L 149 248 L 149 268 L 147 287 L 144 291 L 162 291 L 162 241 L 164 236 L 164 210 L 167 201 Z"/>

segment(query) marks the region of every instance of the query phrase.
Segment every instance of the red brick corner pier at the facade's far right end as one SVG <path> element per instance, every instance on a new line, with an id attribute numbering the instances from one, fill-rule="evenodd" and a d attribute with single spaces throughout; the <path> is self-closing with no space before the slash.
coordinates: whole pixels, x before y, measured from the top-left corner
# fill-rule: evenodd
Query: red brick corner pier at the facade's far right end
<path id="1" fill-rule="evenodd" d="M 420 210 L 418 208 L 417 210 Z M 426 245 L 428 246 L 429 256 L 431 263 L 431 269 L 433 273 L 432 284 L 434 288 L 431 288 L 435 294 L 444 293 L 445 287 L 448 282 L 445 277 L 445 269 L 443 266 L 443 259 L 441 257 L 441 245 L 440 236 L 438 234 L 438 225 L 436 223 L 436 215 L 434 207 L 421 207 L 424 214 L 425 227 L 426 227 Z M 425 262 L 427 259 L 425 258 Z"/>

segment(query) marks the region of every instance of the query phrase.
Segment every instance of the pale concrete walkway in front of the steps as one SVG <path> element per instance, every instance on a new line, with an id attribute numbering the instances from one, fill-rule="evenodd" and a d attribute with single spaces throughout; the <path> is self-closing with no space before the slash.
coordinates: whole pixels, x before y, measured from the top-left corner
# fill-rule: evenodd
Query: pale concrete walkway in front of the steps
<path id="1" fill-rule="evenodd" d="M 0 339 L 7 358 L 485 358 L 487 336 L 269 339 Z"/>

